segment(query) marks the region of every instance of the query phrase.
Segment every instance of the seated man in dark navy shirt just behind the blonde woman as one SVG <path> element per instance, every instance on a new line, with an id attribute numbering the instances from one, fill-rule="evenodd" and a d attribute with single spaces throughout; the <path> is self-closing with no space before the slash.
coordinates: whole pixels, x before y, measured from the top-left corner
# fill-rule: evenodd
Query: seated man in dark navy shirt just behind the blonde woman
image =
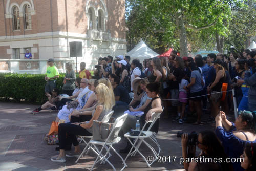
<path id="1" fill-rule="evenodd" d="M 116 106 L 128 106 L 131 99 L 128 91 L 121 85 L 119 85 L 120 79 L 115 74 L 110 74 L 110 82 L 115 95 Z"/>

